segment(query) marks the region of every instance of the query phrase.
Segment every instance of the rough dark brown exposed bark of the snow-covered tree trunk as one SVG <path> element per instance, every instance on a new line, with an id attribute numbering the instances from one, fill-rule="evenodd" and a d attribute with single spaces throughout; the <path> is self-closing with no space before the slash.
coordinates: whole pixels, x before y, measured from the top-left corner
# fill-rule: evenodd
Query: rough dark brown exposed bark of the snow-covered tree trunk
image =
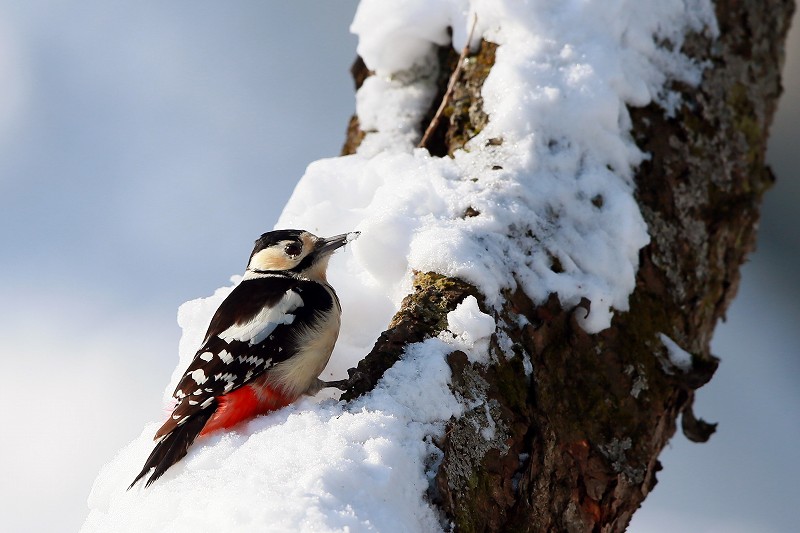
<path id="1" fill-rule="evenodd" d="M 658 456 L 678 416 L 692 440 L 713 432 L 692 413 L 693 395 L 717 367 L 709 342 L 736 293 L 773 181 L 765 148 L 793 10 L 790 0 L 716 4 L 719 39 L 695 35 L 685 46 L 713 64 L 701 86 L 677 87 L 684 106 L 673 118 L 655 105 L 631 110 L 634 137 L 652 155 L 636 180 L 652 242 L 640 254 L 630 311 L 588 335 L 576 310 L 562 309 L 556 297 L 537 306 L 509 293 L 495 316 L 516 357 L 495 342 L 488 368 L 459 352 L 448 359 L 455 392 L 481 403 L 452 420 L 438 443 L 444 459 L 431 498 L 457 531 L 623 531 L 655 486 Z M 426 146 L 432 154 L 452 154 L 488 120 L 480 88 L 495 48 L 483 42 L 469 59 Z M 439 98 L 457 57 L 451 48 L 440 51 Z M 354 66 L 357 80 L 369 74 L 363 63 Z M 343 152 L 355 151 L 362 137 L 354 117 Z M 447 312 L 468 294 L 481 299 L 463 281 L 419 273 L 345 398 L 370 390 L 406 344 L 443 329 Z M 525 327 L 517 326 L 519 315 Z M 691 371 L 670 366 L 661 333 L 692 353 Z M 491 440 L 475 431 L 489 425 L 488 416 Z"/>

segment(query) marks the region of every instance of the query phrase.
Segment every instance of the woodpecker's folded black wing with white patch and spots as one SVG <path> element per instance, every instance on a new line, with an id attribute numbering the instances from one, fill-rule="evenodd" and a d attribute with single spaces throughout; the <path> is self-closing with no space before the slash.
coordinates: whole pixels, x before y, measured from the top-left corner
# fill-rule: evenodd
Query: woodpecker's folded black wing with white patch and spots
<path id="1" fill-rule="evenodd" d="M 175 388 L 177 405 L 156 433 L 157 439 L 199 411 L 214 407 L 217 396 L 246 385 L 292 355 L 284 349 L 287 326 L 302 326 L 310 320 L 301 284 L 283 276 L 254 278 L 228 295 Z"/>

